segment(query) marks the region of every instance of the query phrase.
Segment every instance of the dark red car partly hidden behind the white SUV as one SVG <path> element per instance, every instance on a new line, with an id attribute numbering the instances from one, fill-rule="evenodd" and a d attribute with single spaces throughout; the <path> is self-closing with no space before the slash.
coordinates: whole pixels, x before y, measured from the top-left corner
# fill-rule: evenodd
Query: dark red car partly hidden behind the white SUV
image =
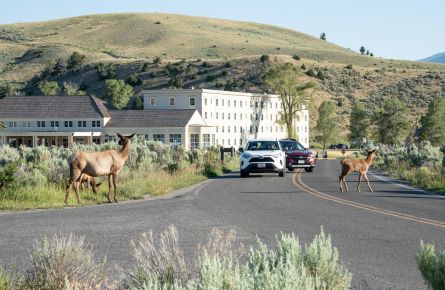
<path id="1" fill-rule="evenodd" d="M 293 171 L 294 168 L 304 168 L 307 172 L 314 171 L 317 159 L 312 151 L 294 139 L 280 140 L 280 144 L 286 152 L 286 167 L 289 171 Z"/>

